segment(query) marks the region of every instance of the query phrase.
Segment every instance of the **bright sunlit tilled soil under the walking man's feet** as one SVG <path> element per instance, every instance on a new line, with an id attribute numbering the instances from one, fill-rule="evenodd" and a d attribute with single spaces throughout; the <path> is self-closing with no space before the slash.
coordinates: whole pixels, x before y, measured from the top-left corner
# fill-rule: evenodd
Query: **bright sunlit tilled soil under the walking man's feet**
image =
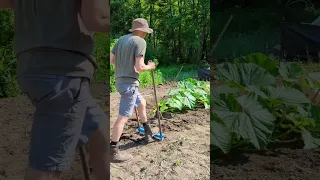
<path id="1" fill-rule="evenodd" d="M 176 85 L 157 87 L 158 99 Z M 158 120 L 153 117 L 155 105 L 153 88 L 143 88 L 141 94 L 147 100 L 147 113 L 155 133 L 158 132 Z M 119 94 L 111 95 L 111 124 L 118 115 Z M 136 141 L 135 114 L 129 120 L 122 136 L 121 148 L 134 156 L 133 161 L 123 164 L 111 164 L 111 179 L 210 179 L 210 117 L 209 110 L 199 109 L 183 114 L 167 115 L 161 120 L 166 139 L 141 145 Z"/>

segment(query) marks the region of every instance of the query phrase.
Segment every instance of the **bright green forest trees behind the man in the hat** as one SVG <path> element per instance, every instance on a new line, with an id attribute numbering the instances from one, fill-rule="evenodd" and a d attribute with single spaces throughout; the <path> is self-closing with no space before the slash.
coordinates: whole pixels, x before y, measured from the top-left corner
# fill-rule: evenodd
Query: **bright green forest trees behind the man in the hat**
<path id="1" fill-rule="evenodd" d="M 111 1 L 111 37 L 127 34 L 132 20 L 141 17 L 154 30 L 146 37 L 146 59 L 158 59 L 162 65 L 207 60 L 209 7 L 207 0 L 114 0 Z"/>

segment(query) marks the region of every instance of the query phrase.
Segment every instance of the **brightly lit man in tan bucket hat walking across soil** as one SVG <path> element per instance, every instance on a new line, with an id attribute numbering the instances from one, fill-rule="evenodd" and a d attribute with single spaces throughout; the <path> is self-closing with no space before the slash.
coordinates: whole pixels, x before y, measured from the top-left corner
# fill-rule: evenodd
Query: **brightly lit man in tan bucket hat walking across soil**
<path id="1" fill-rule="evenodd" d="M 147 20 L 137 18 L 132 22 L 131 33 L 124 35 L 114 45 L 110 63 L 114 64 L 116 89 L 120 93 L 119 116 L 113 126 L 111 139 L 111 162 L 125 162 L 132 159 L 132 155 L 119 152 L 118 142 L 124 125 L 137 107 L 139 117 L 145 129 L 145 140 L 152 137 L 152 131 L 147 121 L 146 100 L 138 91 L 139 72 L 155 69 L 153 62 L 144 63 L 146 53 L 147 34 L 153 32 Z"/>

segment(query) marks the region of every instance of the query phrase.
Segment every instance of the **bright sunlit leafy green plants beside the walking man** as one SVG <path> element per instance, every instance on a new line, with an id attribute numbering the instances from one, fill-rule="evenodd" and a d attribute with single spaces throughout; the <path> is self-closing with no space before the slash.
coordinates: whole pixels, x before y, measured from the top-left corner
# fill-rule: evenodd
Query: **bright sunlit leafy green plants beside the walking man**
<path id="1" fill-rule="evenodd" d="M 168 93 L 169 98 L 159 101 L 160 113 L 183 112 L 195 108 L 210 108 L 210 84 L 189 78 L 178 82 L 178 89 Z M 154 113 L 157 111 L 154 107 Z"/>

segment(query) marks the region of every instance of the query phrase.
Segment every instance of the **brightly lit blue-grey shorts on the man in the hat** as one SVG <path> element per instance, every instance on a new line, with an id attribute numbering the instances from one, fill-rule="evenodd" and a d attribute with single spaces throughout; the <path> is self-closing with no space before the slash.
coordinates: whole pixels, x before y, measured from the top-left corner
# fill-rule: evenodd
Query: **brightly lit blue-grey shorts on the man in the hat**
<path id="1" fill-rule="evenodd" d="M 120 93 L 120 107 L 119 115 L 130 117 L 133 113 L 133 109 L 137 107 L 142 100 L 142 96 L 139 93 L 138 86 L 131 84 L 117 85 L 117 91 Z"/>

